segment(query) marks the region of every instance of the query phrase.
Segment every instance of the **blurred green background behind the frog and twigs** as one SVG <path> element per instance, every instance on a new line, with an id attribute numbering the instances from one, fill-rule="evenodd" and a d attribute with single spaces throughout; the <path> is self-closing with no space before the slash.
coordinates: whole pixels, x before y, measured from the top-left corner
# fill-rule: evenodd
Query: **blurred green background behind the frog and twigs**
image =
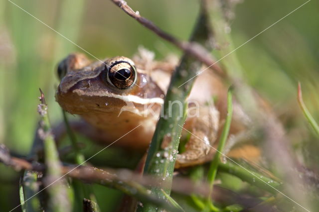
<path id="1" fill-rule="evenodd" d="M 181 54 L 109 0 L 12 2 L 98 58 L 130 57 L 141 45 L 154 51 L 158 59 L 172 53 Z M 236 6 L 230 25 L 235 46 L 304 2 L 243 0 Z M 129 0 L 128 3 L 183 40 L 189 37 L 199 7 L 197 0 Z M 60 122 L 61 110 L 54 100 L 58 85 L 56 65 L 68 53 L 82 50 L 21 8 L 10 1 L 0 1 L 0 143 L 12 152 L 26 155 L 37 127 L 38 88 L 44 91 L 51 122 Z M 269 100 L 288 129 L 299 130 L 291 142 L 296 151 L 306 152 L 303 160 L 310 161 L 310 165 L 319 161 L 316 154 L 319 145 L 312 141 L 296 94 L 300 81 L 306 105 L 319 120 L 318 38 L 319 1 L 311 0 L 236 51 L 249 85 Z M 0 172 L 0 211 L 8 211 L 18 205 L 19 174 L 2 165 Z"/>

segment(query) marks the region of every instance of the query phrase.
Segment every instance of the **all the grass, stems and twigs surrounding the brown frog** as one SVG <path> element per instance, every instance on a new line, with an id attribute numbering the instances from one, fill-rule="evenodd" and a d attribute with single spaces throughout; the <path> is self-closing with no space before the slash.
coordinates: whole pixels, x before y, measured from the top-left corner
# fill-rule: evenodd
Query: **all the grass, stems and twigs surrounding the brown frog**
<path id="1" fill-rule="evenodd" d="M 138 211 L 316 211 L 319 41 L 313 20 L 319 14 L 312 1 L 291 13 L 305 2 L 128 2 L 139 10 L 128 14 L 149 29 L 106 0 L 0 2 L 0 193 L 7 194 L 0 198 L 0 211 L 135 211 L 137 205 Z M 206 42 L 211 38 L 218 44 L 212 49 Z M 192 41 L 206 50 L 197 51 Z M 166 151 L 161 149 L 166 134 L 172 135 L 169 154 L 178 149 L 185 110 L 181 119 L 160 119 L 143 176 L 133 171 L 143 153 L 111 146 L 91 157 L 103 147 L 70 129 L 68 120 L 78 117 L 61 112 L 54 102 L 57 62 L 73 51 L 97 58 L 130 57 L 140 45 L 157 59 L 169 54 L 182 58 L 164 111 L 169 100 L 185 101 L 194 65 L 214 64 L 206 71 L 222 71 L 223 83 L 234 85 L 218 153 L 210 163 L 180 169 L 174 177 L 174 160 L 155 163 L 156 155 Z M 44 100 L 40 93 L 40 104 L 39 87 L 45 94 Z M 236 145 L 258 146 L 263 155 L 258 163 L 223 154 L 231 140 L 234 99 L 249 111 L 257 132 Z M 264 113 L 261 99 L 272 112 Z M 68 136 L 56 144 L 51 126 L 61 122 Z"/>

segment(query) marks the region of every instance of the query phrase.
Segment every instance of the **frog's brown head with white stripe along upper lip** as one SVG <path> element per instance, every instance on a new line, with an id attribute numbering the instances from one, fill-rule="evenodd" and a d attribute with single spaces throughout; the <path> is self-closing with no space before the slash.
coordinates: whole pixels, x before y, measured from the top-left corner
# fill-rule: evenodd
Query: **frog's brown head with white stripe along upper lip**
<path id="1" fill-rule="evenodd" d="M 144 114 L 146 108 L 159 110 L 163 103 L 160 87 L 126 57 L 92 63 L 83 54 L 71 54 L 60 62 L 58 75 L 56 101 L 70 113 L 119 114 L 124 109 Z"/>

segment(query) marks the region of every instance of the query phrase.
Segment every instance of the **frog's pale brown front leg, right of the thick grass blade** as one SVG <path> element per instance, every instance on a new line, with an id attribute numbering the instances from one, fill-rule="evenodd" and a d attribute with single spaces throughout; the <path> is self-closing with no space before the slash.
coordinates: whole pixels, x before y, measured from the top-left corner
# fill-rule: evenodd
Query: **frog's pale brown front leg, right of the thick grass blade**
<path id="1" fill-rule="evenodd" d="M 201 164 L 211 160 L 215 149 L 219 112 L 214 106 L 202 106 L 195 117 L 188 117 L 185 129 L 191 132 L 185 151 L 177 154 L 175 168 Z"/>

